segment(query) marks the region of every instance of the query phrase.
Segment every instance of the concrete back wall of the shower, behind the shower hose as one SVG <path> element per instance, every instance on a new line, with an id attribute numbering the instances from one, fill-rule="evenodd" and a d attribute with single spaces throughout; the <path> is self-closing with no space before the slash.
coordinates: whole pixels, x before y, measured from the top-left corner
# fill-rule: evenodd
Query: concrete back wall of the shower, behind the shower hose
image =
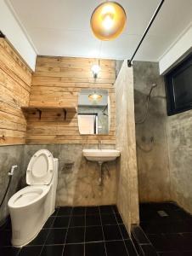
<path id="1" fill-rule="evenodd" d="M 136 121 L 143 119 L 146 96 L 152 84 L 157 84 L 151 94 L 147 119 L 136 125 L 139 201 L 169 201 L 166 99 L 158 63 L 134 61 L 133 79 Z"/>

